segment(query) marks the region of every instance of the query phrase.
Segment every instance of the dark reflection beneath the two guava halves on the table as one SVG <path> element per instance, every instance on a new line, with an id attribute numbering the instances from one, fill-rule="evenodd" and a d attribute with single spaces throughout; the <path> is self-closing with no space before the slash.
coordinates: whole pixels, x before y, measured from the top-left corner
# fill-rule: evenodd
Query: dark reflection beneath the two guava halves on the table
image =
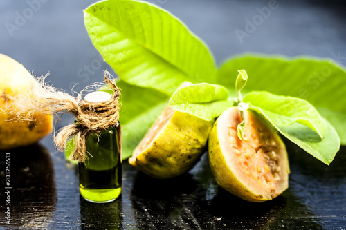
<path id="1" fill-rule="evenodd" d="M 291 191 L 273 201 L 251 203 L 221 189 L 207 155 L 179 178 L 155 180 L 139 172 L 130 198 L 138 229 L 320 229 Z"/>

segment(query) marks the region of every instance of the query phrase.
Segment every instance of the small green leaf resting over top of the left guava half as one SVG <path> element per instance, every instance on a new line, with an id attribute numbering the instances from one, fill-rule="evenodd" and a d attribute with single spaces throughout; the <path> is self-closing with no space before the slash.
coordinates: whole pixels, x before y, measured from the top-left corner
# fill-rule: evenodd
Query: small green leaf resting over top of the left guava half
<path id="1" fill-rule="evenodd" d="M 170 107 L 211 121 L 233 106 L 234 102 L 227 99 L 228 91 L 224 86 L 200 83 L 176 90 L 170 98 Z"/>

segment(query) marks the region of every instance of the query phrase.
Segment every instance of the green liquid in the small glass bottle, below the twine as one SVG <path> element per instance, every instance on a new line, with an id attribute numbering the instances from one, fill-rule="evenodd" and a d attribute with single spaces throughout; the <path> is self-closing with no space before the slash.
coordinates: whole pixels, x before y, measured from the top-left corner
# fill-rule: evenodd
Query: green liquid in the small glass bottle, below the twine
<path id="1" fill-rule="evenodd" d="M 86 160 L 79 163 L 80 194 L 85 200 L 106 203 L 121 193 L 120 123 L 86 137 Z"/>

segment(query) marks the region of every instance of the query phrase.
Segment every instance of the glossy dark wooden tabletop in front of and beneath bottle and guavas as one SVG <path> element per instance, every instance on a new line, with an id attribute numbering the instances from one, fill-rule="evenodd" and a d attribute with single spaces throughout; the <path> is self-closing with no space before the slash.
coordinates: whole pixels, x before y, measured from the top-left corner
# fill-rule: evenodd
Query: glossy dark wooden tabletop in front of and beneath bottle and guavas
<path id="1" fill-rule="evenodd" d="M 251 203 L 219 187 L 208 155 L 190 171 L 156 180 L 123 162 L 122 195 L 108 204 L 80 197 L 76 166 L 40 146 L 11 151 L 12 229 L 340 229 L 346 218 L 346 148 L 330 166 L 286 142 L 289 189 Z M 1 184 L 3 184 L 1 164 Z M 57 188 L 57 189 L 55 189 Z M 3 188 L 1 188 L 3 189 Z M 57 191 L 58 193 L 57 193 Z M 4 199 L 3 191 L 0 198 Z M 57 200 L 57 197 L 59 200 Z M 1 221 L 5 206 L 1 202 Z M 55 208 L 57 210 L 55 210 Z M 331 209 L 334 211 L 331 212 Z M 6 226 L 0 222 L 0 226 Z"/>

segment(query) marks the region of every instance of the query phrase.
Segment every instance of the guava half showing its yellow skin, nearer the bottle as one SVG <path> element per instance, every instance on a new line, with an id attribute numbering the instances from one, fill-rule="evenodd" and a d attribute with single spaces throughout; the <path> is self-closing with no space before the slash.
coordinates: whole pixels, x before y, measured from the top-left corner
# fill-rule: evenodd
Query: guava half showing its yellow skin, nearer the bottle
<path id="1" fill-rule="evenodd" d="M 167 106 L 138 144 L 129 164 L 153 178 L 181 175 L 203 154 L 212 124 Z"/>

